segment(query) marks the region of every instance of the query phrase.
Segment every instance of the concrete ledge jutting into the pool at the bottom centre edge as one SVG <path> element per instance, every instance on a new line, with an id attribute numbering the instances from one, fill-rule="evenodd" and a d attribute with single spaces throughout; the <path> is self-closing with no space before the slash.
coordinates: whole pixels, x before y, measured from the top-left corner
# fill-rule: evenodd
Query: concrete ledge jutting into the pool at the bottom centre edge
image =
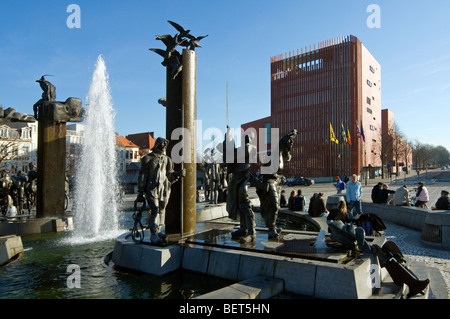
<path id="1" fill-rule="evenodd" d="M 256 276 L 194 299 L 269 299 L 282 292 L 282 280 Z"/>

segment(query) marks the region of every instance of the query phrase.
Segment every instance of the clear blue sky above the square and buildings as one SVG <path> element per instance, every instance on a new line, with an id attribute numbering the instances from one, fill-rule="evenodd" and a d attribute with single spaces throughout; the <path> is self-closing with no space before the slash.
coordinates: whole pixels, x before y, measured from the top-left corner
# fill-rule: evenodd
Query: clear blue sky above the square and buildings
<path id="1" fill-rule="evenodd" d="M 81 28 L 68 28 L 69 4 Z M 367 7 L 381 9 L 369 28 Z M 97 56 L 110 76 L 121 135 L 165 135 L 162 58 L 155 35 L 176 33 L 167 20 L 201 41 L 197 117 L 203 130 L 270 115 L 270 57 L 338 36 L 357 36 L 382 68 L 382 107 L 409 139 L 450 150 L 450 2 L 384 0 L 42 0 L 0 2 L 0 104 L 32 113 L 43 74 L 57 100 L 86 99 Z M 299 128 L 301 129 L 301 128 Z"/>

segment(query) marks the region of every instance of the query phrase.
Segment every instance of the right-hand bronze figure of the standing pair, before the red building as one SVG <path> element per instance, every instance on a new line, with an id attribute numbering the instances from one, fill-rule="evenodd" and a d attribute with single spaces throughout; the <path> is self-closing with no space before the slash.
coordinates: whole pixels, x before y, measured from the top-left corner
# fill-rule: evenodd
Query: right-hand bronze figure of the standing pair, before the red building
<path id="1" fill-rule="evenodd" d="M 291 149 L 296 137 L 297 130 L 292 130 L 280 139 L 277 172 L 273 174 L 263 173 L 261 180 L 257 181 L 256 193 L 261 202 L 261 215 L 269 229 L 269 238 L 278 238 L 280 234 L 280 230 L 276 228 L 276 220 L 280 209 L 281 185 L 285 180 L 282 171 L 284 163 L 291 160 Z M 270 156 L 270 151 L 268 151 L 268 155 Z M 270 163 L 266 163 L 266 165 L 270 165 Z"/>

